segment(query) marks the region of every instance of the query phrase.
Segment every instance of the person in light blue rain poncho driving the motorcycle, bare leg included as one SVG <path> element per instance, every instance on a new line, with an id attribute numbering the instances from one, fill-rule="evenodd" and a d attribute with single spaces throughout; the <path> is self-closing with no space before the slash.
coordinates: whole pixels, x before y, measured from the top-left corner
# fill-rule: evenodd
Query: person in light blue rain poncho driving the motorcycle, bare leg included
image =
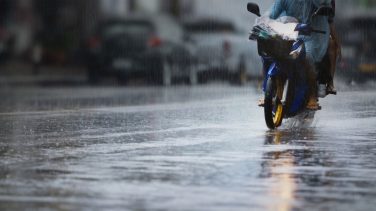
<path id="1" fill-rule="evenodd" d="M 282 16 L 291 16 L 296 18 L 300 23 L 310 23 L 314 8 L 329 4 L 330 0 L 276 0 L 269 17 L 277 19 Z M 310 87 L 307 109 L 311 110 L 319 109 L 315 63 L 322 60 L 329 44 L 329 27 L 326 27 L 328 22 L 326 19 L 325 24 L 324 18 L 315 18 L 312 20 L 312 24 L 320 30 L 327 31 L 325 35 L 313 33 L 310 37 L 304 37 L 307 50 L 305 66 Z"/>

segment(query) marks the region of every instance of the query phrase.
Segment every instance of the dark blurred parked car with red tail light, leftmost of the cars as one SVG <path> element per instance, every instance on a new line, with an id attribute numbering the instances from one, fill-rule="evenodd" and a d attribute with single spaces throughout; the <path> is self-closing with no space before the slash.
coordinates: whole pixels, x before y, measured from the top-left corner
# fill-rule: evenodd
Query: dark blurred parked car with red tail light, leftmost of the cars
<path id="1" fill-rule="evenodd" d="M 115 76 L 122 82 L 142 77 L 170 85 L 197 82 L 194 59 L 181 26 L 170 16 L 132 15 L 100 24 L 88 40 L 88 78 Z"/>

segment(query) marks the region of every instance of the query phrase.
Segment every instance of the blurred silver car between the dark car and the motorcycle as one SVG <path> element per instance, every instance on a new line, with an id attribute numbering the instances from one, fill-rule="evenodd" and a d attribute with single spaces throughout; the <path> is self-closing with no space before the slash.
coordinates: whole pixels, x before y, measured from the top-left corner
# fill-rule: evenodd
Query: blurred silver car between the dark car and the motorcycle
<path id="1" fill-rule="evenodd" d="M 198 18 L 183 21 L 188 40 L 195 43 L 200 75 L 223 77 L 244 84 L 262 76 L 257 45 L 230 20 Z"/>

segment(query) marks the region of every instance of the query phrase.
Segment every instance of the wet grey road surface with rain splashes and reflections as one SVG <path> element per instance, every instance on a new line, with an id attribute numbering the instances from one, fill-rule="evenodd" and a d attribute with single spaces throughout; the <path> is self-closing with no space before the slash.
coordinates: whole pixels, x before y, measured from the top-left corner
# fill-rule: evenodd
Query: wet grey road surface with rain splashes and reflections
<path id="1" fill-rule="evenodd" d="M 268 131 L 252 87 L 3 89 L 0 210 L 372 210 L 372 90 Z"/>

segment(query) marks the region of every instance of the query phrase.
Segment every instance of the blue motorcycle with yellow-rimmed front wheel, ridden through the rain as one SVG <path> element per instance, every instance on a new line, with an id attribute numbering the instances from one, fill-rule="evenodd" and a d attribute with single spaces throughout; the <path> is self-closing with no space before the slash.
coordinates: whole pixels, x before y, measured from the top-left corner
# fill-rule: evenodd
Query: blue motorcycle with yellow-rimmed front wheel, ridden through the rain
<path id="1" fill-rule="evenodd" d="M 248 3 L 247 9 L 261 17 L 257 4 Z M 332 13 L 331 7 L 320 7 L 312 18 L 318 15 L 329 16 Z M 291 17 L 287 17 L 285 23 L 270 21 L 270 25 L 256 24 L 250 40 L 257 41 L 258 53 L 266 73 L 263 84 L 266 125 L 270 129 L 275 129 L 282 125 L 283 119 L 307 111 L 309 86 L 304 71 L 306 48 L 302 36 L 326 32 L 315 30 L 310 24 L 298 23 Z M 283 32 L 278 29 L 282 29 Z"/>

